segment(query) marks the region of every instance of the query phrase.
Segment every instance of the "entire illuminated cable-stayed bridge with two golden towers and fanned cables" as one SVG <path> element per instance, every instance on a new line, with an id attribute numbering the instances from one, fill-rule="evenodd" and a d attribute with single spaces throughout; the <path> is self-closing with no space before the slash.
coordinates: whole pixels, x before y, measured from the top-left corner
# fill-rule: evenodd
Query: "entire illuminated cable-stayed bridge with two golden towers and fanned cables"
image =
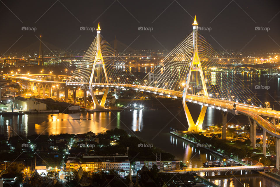
<path id="1" fill-rule="evenodd" d="M 128 67 L 119 68 L 115 64 L 125 64 L 116 56 L 112 47 L 101 36 L 98 25 L 97 36 L 78 64 L 77 69 L 67 82 L 40 80 L 33 75 L 7 75 L 13 79 L 41 84 L 66 84 L 73 88 L 80 87 L 90 91 L 96 109 L 104 108 L 109 88 L 127 88 L 146 91 L 182 100 L 188 121 L 188 131 L 202 131 L 202 123 L 208 107 L 221 111 L 223 133 L 226 139 L 228 112 L 245 115 L 250 123 L 251 146 L 256 145 L 256 125 L 276 137 L 276 168 L 279 169 L 280 129 L 269 122 L 267 117 L 280 117 L 280 112 L 266 108 L 242 80 L 234 73 L 226 73 L 223 67 L 227 62 L 221 58 L 211 45 L 198 32 L 196 17 L 193 30 L 176 46 L 146 77 L 139 79 Z M 104 87 L 104 96 L 97 101 L 93 89 Z M 85 93 L 85 92 L 84 92 Z M 65 96 L 66 97 L 66 96 Z M 84 98 L 86 101 L 86 98 Z M 192 118 L 187 102 L 201 105 L 196 121 Z M 86 105 L 85 105 L 86 106 Z M 263 153 L 266 153 L 264 141 Z"/>

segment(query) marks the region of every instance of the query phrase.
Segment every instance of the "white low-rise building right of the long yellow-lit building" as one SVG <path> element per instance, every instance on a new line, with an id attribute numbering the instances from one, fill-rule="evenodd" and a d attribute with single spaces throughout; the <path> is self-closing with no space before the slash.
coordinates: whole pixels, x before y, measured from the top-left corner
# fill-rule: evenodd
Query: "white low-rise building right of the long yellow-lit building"
<path id="1" fill-rule="evenodd" d="M 180 169 L 180 161 L 136 161 L 135 169 L 136 171 L 146 166 L 149 170 L 156 165 L 159 171 L 172 171 Z"/>

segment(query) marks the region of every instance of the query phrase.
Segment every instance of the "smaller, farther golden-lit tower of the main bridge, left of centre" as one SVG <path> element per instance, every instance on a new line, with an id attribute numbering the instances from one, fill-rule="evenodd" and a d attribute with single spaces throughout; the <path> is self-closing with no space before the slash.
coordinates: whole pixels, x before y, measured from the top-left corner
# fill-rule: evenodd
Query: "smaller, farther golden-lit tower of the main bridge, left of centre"
<path id="1" fill-rule="evenodd" d="M 92 97 L 92 101 L 94 103 L 94 109 L 104 109 L 107 94 L 109 92 L 109 87 L 106 87 L 106 90 L 104 92 L 104 95 L 103 95 L 100 103 L 98 103 L 98 101 L 97 101 L 97 99 L 96 99 L 96 97 L 93 93 L 93 90 L 92 90 L 93 74 L 94 74 L 94 71 L 95 71 L 96 67 L 103 69 L 104 74 L 105 74 L 106 82 L 109 83 L 107 71 L 106 71 L 106 68 L 105 68 L 104 59 L 103 59 L 103 56 L 102 56 L 102 53 L 101 53 L 101 46 L 100 46 L 100 44 L 101 44 L 100 31 L 101 31 L 101 29 L 100 29 L 99 23 L 98 23 L 98 28 L 97 28 L 96 31 L 97 31 L 97 51 L 96 51 L 95 58 L 94 58 L 94 61 L 93 61 L 92 72 L 91 72 L 91 75 L 90 75 L 89 90 L 90 90 L 90 94 L 91 94 L 91 97 Z"/>

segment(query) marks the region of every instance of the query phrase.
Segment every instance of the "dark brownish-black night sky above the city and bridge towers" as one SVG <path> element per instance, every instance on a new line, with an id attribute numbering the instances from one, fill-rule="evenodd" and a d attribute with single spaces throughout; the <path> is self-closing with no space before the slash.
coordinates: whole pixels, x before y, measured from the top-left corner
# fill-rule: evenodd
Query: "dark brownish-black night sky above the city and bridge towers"
<path id="1" fill-rule="evenodd" d="M 270 0 L 1 0 L 0 52 L 37 50 L 40 34 L 50 50 L 86 50 L 96 31 L 80 27 L 96 28 L 98 22 L 108 42 L 116 35 L 134 49 L 171 50 L 192 31 L 194 15 L 200 27 L 211 27 L 200 32 L 216 50 L 279 52 L 279 5 Z"/>

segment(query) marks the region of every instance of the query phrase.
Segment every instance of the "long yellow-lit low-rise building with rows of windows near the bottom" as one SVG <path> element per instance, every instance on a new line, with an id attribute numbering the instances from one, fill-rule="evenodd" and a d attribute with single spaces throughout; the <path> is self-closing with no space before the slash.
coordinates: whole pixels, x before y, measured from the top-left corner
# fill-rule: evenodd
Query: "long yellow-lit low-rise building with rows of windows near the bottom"
<path id="1" fill-rule="evenodd" d="M 66 171 L 77 171 L 80 167 L 84 171 L 90 172 L 100 172 L 100 171 L 109 171 L 109 169 L 113 169 L 116 172 L 121 171 L 122 169 L 125 171 L 125 174 L 129 173 L 130 163 L 129 161 L 124 162 L 70 162 L 65 163 Z"/>

